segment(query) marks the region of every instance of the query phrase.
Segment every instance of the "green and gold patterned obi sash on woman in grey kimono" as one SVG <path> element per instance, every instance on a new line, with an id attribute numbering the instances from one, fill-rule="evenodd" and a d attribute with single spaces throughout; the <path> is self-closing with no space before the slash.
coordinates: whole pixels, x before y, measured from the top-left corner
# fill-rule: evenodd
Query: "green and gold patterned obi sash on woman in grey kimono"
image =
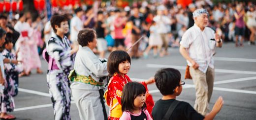
<path id="1" fill-rule="evenodd" d="M 82 82 L 82 83 L 95 85 L 95 86 L 103 86 L 102 82 L 97 82 L 90 75 L 89 76 L 79 75 L 75 72 L 75 70 L 71 70 L 69 72 L 68 79 L 72 82 Z"/>

